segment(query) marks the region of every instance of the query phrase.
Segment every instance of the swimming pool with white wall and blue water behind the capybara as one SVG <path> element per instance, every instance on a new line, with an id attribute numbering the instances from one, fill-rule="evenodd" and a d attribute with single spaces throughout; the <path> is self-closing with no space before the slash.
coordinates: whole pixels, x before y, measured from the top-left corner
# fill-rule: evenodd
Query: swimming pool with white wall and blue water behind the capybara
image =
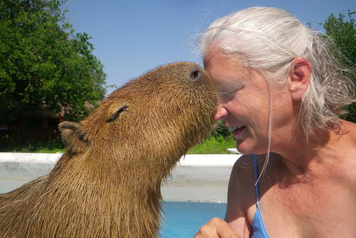
<path id="1" fill-rule="evenodd" d="M 0 152 L 0 193 L 46 175 L 61 155 Z M 186 155 L 162 182 L 162 238 L 193 237 L 213 217 L 224 218 L 227 185 L 241 155 Z"/>

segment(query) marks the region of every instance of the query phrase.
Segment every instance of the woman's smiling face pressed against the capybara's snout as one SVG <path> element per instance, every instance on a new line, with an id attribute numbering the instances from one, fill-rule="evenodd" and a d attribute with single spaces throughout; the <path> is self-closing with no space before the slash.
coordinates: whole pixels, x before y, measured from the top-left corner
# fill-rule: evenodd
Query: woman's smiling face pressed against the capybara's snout
<path id="1" fill-rule="evenodd" d="M 213 47 L 204 56 L 204 69 L 220 97 L 214 118 L 232 130 L 237 150 L 244 154 L 266 153 L 270 107 L 266 78 L 256 70 L 241 66 L 235 59 L 221 56 L 218 48 Z M 290 122 L 292 112 L 286 110 L 288 101 L 291 99 L 283 90 L 273 94 L 272 137 Z"/>

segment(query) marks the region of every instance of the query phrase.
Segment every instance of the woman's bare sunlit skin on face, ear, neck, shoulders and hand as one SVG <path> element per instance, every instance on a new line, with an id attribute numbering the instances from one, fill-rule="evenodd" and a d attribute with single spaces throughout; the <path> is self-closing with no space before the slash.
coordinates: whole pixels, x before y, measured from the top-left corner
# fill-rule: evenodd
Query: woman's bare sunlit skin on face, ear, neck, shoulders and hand
<path id="1" fill-rule="evenodd" d="M 262 170 L 268 150 L 270 93 L 260 72 L 238 59 L 221 56 L 211 46 L 204 56 L 220 94 L 215 120 L 244 126 L 232 132 L 241 156 L 229 182 L 225 221 L 214 218 L 195 238 L 252 237 L 256 195 L 252 153 Z M 292 62 L 283 87 L 273 87 L 271 157 L 259 182 L 260 204 L 268 235 L 273 237 L 355 237 L 356 125 L 340 120 L 331 131 L 315 131 L 309 144 L 298 123 L 300 102 L 312 66 L 305 58 Z"/>

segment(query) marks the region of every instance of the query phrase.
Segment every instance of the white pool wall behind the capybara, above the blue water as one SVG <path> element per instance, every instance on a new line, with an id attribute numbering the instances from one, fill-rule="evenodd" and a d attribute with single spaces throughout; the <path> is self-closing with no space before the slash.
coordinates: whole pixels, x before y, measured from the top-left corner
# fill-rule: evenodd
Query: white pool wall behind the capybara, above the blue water
<path id="1" fill-rule="evenodd" d="M 0 193 L 46 175 L 61 154 L 1 153 Z M 166 201 L 226 202 L 232 166 L 241 155 L 186 155 L 163 181 Z"/>

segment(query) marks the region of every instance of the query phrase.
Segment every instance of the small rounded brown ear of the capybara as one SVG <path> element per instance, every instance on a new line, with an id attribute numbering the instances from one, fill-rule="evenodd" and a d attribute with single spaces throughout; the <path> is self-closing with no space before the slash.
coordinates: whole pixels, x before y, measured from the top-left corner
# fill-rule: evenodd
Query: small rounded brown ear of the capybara
<path id="1" fill-rule="evenodd" d="M 88 141 L 84 138 L 84 132 L 79 122 L 63 121 L 58 125 L 62 140 L 75 151 L 84 151 Z"/>

